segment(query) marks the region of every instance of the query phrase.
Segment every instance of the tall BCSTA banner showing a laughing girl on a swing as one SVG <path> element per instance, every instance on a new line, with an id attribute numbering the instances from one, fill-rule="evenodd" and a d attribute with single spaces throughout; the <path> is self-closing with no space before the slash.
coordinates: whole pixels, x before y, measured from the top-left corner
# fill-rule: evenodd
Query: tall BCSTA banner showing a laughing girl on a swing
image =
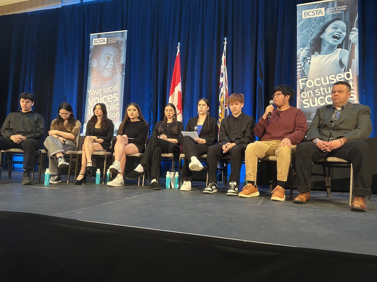
<path id="1" fill-rule="evenodd" d="M 332 85 L 351 85 L 359 103 L 359 30 L 357 0 L 297 5 L 297 108 L 313 120 L 318 107 L 332 104 Z"/>

